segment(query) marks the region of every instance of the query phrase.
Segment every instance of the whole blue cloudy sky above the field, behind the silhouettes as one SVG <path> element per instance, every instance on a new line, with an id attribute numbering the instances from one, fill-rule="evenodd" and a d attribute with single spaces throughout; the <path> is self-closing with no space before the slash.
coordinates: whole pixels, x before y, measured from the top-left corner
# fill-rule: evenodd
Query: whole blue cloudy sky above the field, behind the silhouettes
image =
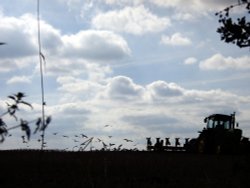
<path id="1" fill-rule="evenodd" d="M 146 137 L 195 138 L 211 114 L 236 112 L 250 137 L 248 48 L 220 41 L 215 12 L 236 0 L 40 0 L 48 149 L 145 149 Z M 24 92 L 15 121 L 41 116 L 37 2 L 0 2 L 0 112 Z M 241 16 L 235 10 L 234 16 Z M 34 123 L 30 124 L 32 130 Z M 56 133 L 56 134 L 55 134 Z M 0 149 L 39 149 L 11 130 Z M 111 137 L 112 136 L 112 137 Z M 124 139 L 133 142 L 126 142 Z M 102 140 L 100 142 L 100 140 Z M 113 145 L 115 144 L 115 145 Z"/>

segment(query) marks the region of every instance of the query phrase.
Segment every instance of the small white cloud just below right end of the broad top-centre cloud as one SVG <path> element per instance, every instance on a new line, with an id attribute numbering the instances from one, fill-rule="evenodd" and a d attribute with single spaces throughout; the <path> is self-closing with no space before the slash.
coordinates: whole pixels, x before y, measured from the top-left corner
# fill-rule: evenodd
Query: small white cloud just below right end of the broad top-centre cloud
<path id="1" fill-rule="evenodd" d="M 184 37 L 181 33 L 175 33 L 172 36 L 162 35 L 161 43 L 171 46 L 188 46 L 192 44 L 191 40 Z"/>

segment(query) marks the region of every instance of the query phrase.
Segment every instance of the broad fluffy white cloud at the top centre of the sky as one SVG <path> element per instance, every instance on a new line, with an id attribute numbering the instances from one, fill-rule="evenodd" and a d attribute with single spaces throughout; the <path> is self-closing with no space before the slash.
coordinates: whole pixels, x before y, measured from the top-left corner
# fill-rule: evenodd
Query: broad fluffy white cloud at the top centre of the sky
<path id="1" fill-rule="evenodd" d="M 97 29 L 142 35 L 163 31 L 170 26 L 170 19 L 157 17 L 141 5 L 126 7 L 120 11 L 100 13 L 93 18 L 92 25 Z"/>

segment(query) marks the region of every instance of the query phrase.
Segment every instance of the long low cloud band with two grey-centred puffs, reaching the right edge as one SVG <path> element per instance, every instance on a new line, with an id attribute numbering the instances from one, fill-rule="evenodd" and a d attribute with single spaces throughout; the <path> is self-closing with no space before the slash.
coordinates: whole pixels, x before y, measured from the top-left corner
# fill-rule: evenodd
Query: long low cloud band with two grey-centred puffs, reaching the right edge
<path id="1" fill-rule="evenodd" d="M 185 89 L 176 83 L 168 83 L 163 80 L 154 81 L 148 85 L 139 85 L 125 76 L 106 78 L 103 82 L 91 82 L 76 79 L 71 76 L 59 77 L 57 82 L 60 90 L 76 96 L 87 95 L 89 99 L 98 99 L 99 102 L 109 99 L 117 101 L 130 101 L 134 103 L 154 104 L 214 104 L 218 105 L 244 103 L 248 97 L 239 97 L 236 94 L 220 89 L 195 90 Z M 104 99 L 104 100 L 102 100 Z M 228 102 L 231 101 L 231 102 Z M 111 103 L 110 103 L 111 105 Z"/>

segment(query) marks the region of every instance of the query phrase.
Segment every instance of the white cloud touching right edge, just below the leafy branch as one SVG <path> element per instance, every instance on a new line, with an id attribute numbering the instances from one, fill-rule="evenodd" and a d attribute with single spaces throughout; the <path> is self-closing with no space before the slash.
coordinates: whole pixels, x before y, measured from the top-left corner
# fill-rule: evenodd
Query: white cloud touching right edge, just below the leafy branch
<path id="1" fill-rule="evenodd" d="M 250 69 L 250 57 L 224 57 L 217 53 L 212 57 L 200 62 L 200 68 L 202 70 L 226 70 L 226 69 Z"/>

